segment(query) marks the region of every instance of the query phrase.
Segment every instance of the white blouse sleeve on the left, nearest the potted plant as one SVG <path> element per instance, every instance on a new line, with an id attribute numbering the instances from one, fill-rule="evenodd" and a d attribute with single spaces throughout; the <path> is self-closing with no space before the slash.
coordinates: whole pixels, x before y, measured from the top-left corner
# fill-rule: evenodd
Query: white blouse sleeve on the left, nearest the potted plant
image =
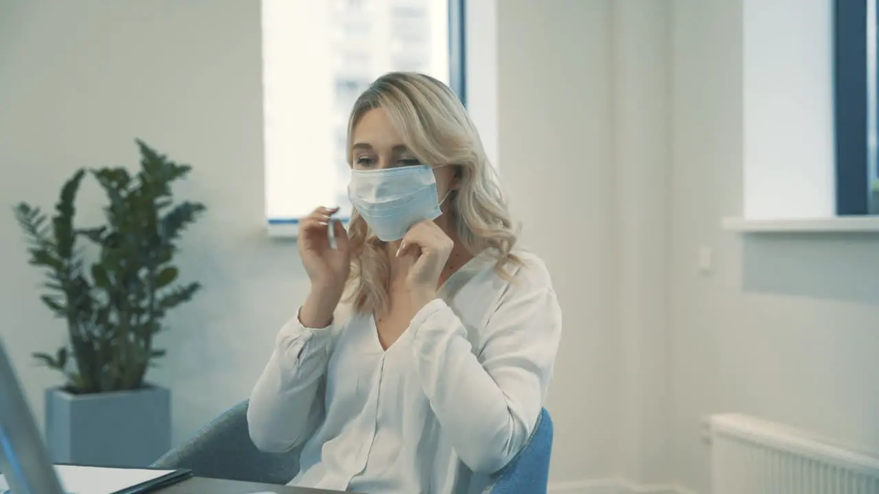
<path id="1" fill-rule="evenodd" d="M 324 413 L 323 381 L 332 334 L 332 325 L 307 328 L 298 316 L 278 332 L 247 409 L 248 431 L 260 451 L 289 451 L 315 432 Z"/>

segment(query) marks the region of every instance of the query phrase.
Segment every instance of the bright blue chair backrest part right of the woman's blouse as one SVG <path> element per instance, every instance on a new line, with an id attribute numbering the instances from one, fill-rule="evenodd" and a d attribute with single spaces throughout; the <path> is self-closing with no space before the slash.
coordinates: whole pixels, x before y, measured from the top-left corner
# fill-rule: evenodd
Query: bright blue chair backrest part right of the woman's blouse
<path id="1" fill-rule="evenodd" d="M 490 494 L 546 494 L 549 482 L 549 457 L 552 453 L 552 418 L 541 410 L 537 425 L 525 447 L 498 472 L 485 492 Z"/>

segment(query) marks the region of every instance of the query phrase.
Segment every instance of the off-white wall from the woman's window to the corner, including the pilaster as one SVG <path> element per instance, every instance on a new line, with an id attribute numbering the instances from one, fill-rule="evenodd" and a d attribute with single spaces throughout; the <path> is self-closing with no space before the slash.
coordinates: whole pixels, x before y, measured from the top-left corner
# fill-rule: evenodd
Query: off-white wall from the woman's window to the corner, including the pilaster
<path id="1" fill-rule="evenodd" d="M 671 6 L 500 4 L 500 157 L 525 239 L 558 273 L 549 410 L 581 431 L 556 436 L 553 473 L 592 489 L 671 479 Z"/>

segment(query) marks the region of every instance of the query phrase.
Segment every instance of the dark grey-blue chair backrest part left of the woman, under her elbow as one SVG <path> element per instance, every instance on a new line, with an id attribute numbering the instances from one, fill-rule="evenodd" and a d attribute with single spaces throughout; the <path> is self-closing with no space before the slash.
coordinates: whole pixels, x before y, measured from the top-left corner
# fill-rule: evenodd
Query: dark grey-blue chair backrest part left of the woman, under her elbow
<path id="1" fill-rule="evenodd" d="M 153 463 L 159 469 L 191 469 L 195 476 L 285 484 L 299 471 L 299 450 L 263 453 L 247 430 L 244 401 Z"/>

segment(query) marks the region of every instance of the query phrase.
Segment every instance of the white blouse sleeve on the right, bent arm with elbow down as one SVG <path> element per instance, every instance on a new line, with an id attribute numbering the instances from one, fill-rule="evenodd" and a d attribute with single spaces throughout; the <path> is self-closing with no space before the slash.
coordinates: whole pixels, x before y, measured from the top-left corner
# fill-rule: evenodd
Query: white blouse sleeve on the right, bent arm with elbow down
<path id="1" fill-rule="evenodd" d="M 483 329 L 477 358 L 445 301 L 410 323 L 416 366 L 433 412 L 469 469 L 495 473 L 525 446 L 547 394 L 562 311 L 541 264 L 512 280 Z"/>

